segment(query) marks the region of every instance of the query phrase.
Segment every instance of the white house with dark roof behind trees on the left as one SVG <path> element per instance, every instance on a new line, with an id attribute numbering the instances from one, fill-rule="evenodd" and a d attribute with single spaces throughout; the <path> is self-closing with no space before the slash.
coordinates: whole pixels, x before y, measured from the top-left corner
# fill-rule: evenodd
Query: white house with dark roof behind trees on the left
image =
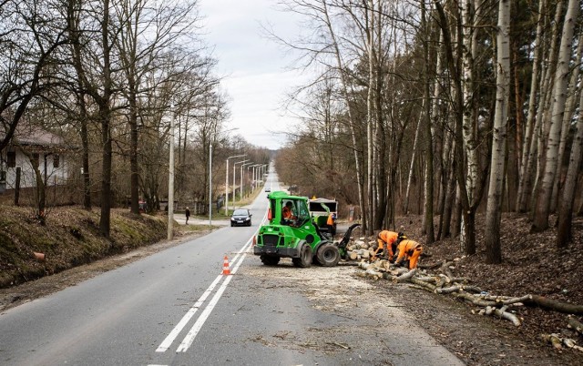
<path id="1" fill-rule="evenodd" d="M 20 123 L 10 145 L 0 152 L 0 193 L 15 188 L 17 168 L 21 170 L 20 188 L 35 187 L 33 164 L 47 187 L 64 184 L 69 174 L 66 153 L 71 150 L 62 137 Z"/>

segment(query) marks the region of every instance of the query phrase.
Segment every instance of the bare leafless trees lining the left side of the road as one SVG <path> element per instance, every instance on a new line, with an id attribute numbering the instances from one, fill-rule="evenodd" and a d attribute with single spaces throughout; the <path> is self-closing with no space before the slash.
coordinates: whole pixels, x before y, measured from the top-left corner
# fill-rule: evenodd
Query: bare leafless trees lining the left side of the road
<path id="1" fill-rule="evenodd" d="M 228 97 L 200 26 L 196 0 L 1 2 L 0 151 L 18 145 L 22 123 L 65 137 L 79 202 L 100 208 L 106 237 L 112 207 L 129 200 L 138 214 L 140 198 L 151 210 L 166 198 L 170 145 L 179 201 L 216 199 L 227 158 L 267 164 L 271 153 L 225 127 Z"/>

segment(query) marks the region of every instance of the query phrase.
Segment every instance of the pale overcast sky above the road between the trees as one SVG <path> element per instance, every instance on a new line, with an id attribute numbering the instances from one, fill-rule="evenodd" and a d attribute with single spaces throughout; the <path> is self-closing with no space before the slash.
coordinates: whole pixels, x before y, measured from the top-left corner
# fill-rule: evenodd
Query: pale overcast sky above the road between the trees
<path id="1" fill-rule="evenodd" d="M 200 0 L 203 36 L 214 46 L 221 87 L 230 96 L 227 129 L 251 144 L 277 149 L 285 141 L 282 131 L 295 119 L 283 117 L 285 92 L 298 84 L 299 72 L 288 70 L 293 58 L 263 36 L 261 24 L 269 23 L 278 35 L 297 33 L 292 15 L 278 12 L 274 0 Z"/>

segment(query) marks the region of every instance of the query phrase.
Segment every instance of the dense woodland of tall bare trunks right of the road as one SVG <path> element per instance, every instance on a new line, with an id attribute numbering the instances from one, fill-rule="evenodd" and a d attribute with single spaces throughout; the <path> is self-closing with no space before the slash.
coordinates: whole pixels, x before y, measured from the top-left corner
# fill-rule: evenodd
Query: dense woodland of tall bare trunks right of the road
<path id="1" fill-rule="evenodd" d="M 556 213 L 568 246 L 583 203 L 580 1 L 280 4 L 305 33 L 271 36 L 314 73 L 291 96 L 302 122 L 276 159 L 281 180 L 359 207 L 368 234 L 423 214 L 427 243 L 459 235 L 465 254 L 480 208 L 488 263 L 503 211 L 533 230 Z"/>

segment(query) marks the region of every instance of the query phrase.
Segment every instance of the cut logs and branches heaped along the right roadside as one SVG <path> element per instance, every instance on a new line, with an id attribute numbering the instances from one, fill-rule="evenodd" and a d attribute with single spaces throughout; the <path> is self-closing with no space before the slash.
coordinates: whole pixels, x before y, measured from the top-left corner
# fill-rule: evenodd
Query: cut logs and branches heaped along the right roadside
<path id="1" fill-rule="evenodd" d="M 533 306 L 571 314 L 568 318 L 568 328 L 575 330 L 579 335 L 583 335 L 583 325 L 573 317 L 573 315 L 583 315 L 582 305 L 551 300 L 538 295 L 520 297 L 490 295 L 485 290 L 471 285 L 469 283 L 470 279 L 455 277 L 452 273 L 452 269 L 455 269 L 454 262 L 444 262 L 433 266 L 424 266 L 424 269 L 409 270 L 397 267 L 385 259 L 370 261 L 373 257 L 375 245 L 376 243 L 367 243 L 363 239 L 359 239 L 346 248 L 348 257 L 353 261 L 357 261 L 358 268 L 363 269 L 357 272 L 357 276 L 372 280 L 391 280 L 394 283 L 408 282 L 415 287 L 434 293 L 449 294 L 475 305 L 478 310 L 472 310 L 473 313 L 509 320 L 517 327 L 521 325 L 521 320 L 516 315 L 519 307 Z M 428 273 L 428 269 L 438 269 L 439 273 Z M 576 341 L 561 338 L 554 333 L 543 334 L 541 339 L 550 342 L 555 348 L 566 346 L 574 350 L 583 351 L 582 347 L 576 345 Z"/>

